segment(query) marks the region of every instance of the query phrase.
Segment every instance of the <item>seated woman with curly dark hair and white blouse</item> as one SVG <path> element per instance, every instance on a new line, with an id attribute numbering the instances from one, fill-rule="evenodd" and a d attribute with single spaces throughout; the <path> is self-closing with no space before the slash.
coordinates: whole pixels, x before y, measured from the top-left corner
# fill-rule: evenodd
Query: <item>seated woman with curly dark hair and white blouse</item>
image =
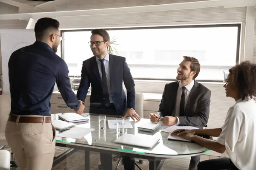
<path id="1" fill-rule="evenodd" d="M 201 161 L 198 170 L 256 170 L 256 64 L 241 62 L 229 70 L 224 85 L 226 96 L 236 103 L 217 129 L 185 130 L 171 133 L 230 157 Z M 216 136 L 212 141 L 197 135 Z"/>

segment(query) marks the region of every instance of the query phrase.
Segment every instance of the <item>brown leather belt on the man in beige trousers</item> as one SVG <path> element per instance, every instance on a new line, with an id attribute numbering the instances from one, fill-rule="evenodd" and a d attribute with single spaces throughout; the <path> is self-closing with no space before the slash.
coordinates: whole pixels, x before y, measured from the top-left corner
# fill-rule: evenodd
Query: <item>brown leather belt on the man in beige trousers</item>
<path id="1" fill-rule="evenodd" d="M 9 114 L 9 121 L 16 122 L 18 116 Z M 45 123 L 51 123 L 51 117 L 45 117 Z M 44 117 L 20 116 L 19 123 L 44 123 Z"/>

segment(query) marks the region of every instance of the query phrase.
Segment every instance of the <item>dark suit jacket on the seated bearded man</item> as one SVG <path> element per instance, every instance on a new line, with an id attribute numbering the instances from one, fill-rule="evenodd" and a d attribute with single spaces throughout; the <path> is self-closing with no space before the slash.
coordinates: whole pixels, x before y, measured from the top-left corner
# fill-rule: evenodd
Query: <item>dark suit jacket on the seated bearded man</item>
<path id="1" fill-rule="evenodd" d="M 159 105 L 160 116 L 174 116 L 179 81 L 167 83 Z M 209 118 L 211 91 L 195 81 L 189 94 L 184 115 L 178 116 L 180 126 L 205 127 Z"/>

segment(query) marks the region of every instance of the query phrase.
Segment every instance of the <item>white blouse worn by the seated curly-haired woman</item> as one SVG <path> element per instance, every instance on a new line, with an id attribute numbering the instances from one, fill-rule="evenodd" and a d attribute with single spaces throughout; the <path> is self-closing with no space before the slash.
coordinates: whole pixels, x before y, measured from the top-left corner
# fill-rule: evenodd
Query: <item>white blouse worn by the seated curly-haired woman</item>
<path id="1" fill-rule="evenodd" d="M 239 170 L 256 169 L 256 102 L 239 99 L 227 112 L 218 143 Z"/>

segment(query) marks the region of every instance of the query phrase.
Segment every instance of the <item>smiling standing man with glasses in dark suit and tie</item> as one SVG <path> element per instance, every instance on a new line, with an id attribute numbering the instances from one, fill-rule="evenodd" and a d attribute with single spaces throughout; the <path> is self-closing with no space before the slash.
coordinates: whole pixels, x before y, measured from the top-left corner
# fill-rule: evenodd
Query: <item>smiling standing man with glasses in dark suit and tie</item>
<path id="1" fill-rule="evenodd" d="M 84 102 L 91 86 L 90 113 L 122 118 L 130 116 L 133 120 L 140 120 L 140 116 L 134 111 L 135 84 L 125 57 L 108 53 L 110 37 L 107 31 L 95 29 L 91 33 L 88 43 L 94 56 L 83 62 L 77 98 Z M 125 170 L 134 169 L 134 159 L 123 157 L 123 161 Z M 104 170 L 112 169 L 111 155 L 101 153 L 101 164 Z"/>

